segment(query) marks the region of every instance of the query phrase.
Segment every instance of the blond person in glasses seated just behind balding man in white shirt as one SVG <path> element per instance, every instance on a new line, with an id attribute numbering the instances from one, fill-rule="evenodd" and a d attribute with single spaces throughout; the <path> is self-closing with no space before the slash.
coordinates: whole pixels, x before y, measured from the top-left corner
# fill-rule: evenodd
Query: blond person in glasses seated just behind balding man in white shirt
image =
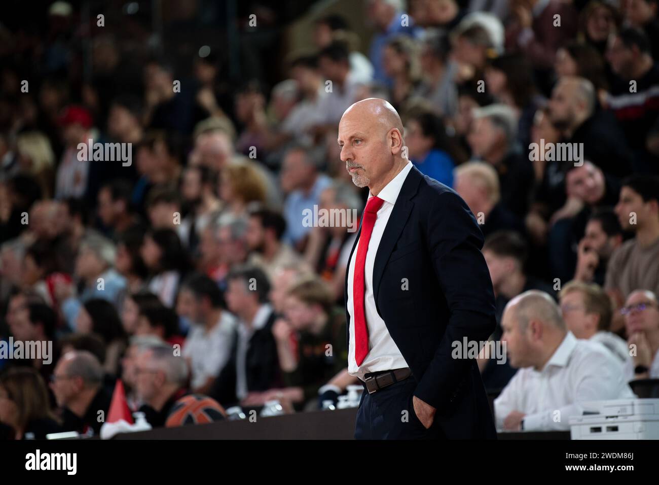
<path id="1" fill-rule="evenodd" d="M 612 309 L 609 297 L 594 283 L 571 281 L 558 296 L 567 329 L 577 339 L 599 342 L 624 364 L 629 359 L 627 342 L 610 332 Z"/>

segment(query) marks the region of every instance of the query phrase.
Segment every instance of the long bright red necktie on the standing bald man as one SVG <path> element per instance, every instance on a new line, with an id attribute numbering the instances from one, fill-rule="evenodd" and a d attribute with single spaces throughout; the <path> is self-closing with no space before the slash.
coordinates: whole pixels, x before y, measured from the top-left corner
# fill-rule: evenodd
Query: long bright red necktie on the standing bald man
<path id="1" fill-rule="evenodd" d="M 362 216 L 362 232 L 359 236 L 357 247 L 357 259 L 355 260 L 355 278 L 353 278 L 353 302 L 355 304 L 355 361 L 362 365 L 366 354 L 368 354 L 368 327 L 366 327 L 366 315 L 364 313 L 364 266 L 366 265 L 366 251 L 375 220 L 378 218 L 378 210 L 384 201 L 379 197 L 371 197 L 366 202 L 364 216 Z"/>

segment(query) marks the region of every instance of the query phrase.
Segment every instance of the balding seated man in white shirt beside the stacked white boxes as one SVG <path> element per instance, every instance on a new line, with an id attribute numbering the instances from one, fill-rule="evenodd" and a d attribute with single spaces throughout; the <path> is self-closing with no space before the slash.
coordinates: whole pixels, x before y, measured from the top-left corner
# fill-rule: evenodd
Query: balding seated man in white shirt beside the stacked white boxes
<path id="1" fill-rule="evenodd" d="M 501 327 L 509 362 L 519 370 L 494 401 L 498 429 L 569 430 L 585 401 L 635 397 L 616 358 L 600 344 L 577 340 L 548 294 L 530 290 L 513 298 Z"/>

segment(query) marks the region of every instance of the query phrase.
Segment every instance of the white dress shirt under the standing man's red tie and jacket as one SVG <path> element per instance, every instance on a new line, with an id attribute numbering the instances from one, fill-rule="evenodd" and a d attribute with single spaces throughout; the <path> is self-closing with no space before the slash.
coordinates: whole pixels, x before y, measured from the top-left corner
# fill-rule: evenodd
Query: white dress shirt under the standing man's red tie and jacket
<path id="1" fill-rule="evenodd" d="M 377 372 L 381 370 L 393 370 L 409 367 L 403 354 L 398 346 L 389 335 L 384 320 L 378 314 L 375 306 L 375 296 L 373 294 L 373 266 L 375 263 L 378 246 L 382 240 L 384 228 L 387 226 L 387 220 L 393 210 L 393 205 L 398 199 L 398 194 L 403 187 L 403 182 L 412 170 L 412 162 L 407 165 L 380 191 L 378 197 L 384 202 L 378 210 L 370 241 L 368 242 L 368 251 L 366 252 L 366 264 L 364 265 L 364 315 L 366 316 L 366 326 L 368 327 L 368 354 L 364 358 L 361 366 L 357 366 L 355 361 L 355 304 L 353 303 L 353 282 L 355 280 L 355 258 L 359 243 L 355 246 L 353 257 L 350 259 L 348 268 L 348 313 L 350 314 L 350 340 L 348 347 L 348 372 L 351 375 L 357 375 L 362 381 L 364 374 L 368 372 Z M 368 198 L 373 197 L 368 193 Z"/>

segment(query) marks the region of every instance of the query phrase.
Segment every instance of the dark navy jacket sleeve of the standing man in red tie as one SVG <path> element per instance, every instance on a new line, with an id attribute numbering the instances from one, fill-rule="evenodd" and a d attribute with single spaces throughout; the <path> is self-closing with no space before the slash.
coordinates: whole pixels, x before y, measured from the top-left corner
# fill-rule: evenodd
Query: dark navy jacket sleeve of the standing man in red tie
<path id="1" fill-rule="evenodd" d="M 452 342 L 487 340 L 496 328 L 496 318 L 492 280 L 480 253 L 483 236 L 473 214 L 453 192 L 434 199 L 428 211 L 426 243 L 450 316 L 415 396 L 441 413 L 455 400 L 474 365 L 472 359 L 451 357 Z"/>

